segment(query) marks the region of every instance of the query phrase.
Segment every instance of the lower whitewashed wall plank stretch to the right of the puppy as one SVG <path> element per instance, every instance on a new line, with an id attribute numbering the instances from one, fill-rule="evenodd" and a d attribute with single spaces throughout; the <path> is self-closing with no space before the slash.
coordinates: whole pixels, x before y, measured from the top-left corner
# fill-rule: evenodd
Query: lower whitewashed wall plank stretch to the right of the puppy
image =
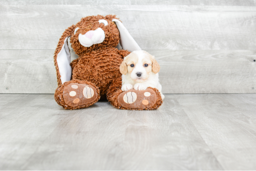
<path id="1" fill-rule="evenodd" d="M 164 93 L 256 93 L 254 51 L 149 52 L 161 66 Z"/>

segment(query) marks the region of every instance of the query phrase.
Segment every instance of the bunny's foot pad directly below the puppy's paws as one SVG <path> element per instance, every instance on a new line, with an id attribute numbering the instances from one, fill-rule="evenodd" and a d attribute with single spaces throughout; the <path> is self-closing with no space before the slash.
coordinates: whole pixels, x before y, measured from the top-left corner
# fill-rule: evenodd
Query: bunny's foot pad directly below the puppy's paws
<path id="1" fill-rule="evenodd" d="M 148 109 L 156 103 L 156 93 L 154 90 L 128 90 L 118 96 L 118 103 L 128 109 Z"/>

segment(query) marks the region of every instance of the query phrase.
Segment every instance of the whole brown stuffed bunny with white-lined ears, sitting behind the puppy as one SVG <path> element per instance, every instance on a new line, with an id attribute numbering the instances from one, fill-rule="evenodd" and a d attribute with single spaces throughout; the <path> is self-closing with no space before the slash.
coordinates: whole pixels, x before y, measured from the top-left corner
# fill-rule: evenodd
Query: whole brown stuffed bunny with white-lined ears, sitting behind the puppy
<path id="1" fill-rule="evenodd" d="M 68 37 L 79 56 L 72 62 Z M 115 15 L 88 16 L 66 29 L 54 53 L 59 86 L 55 101 L 59 105 L 64 109 L 86 108 L 100 98 L 107 98 L 118 109 L 152 110 L 162 104 L 155 88 L 122 92 L 119 66 L 130 52 L 116 48 L 119 40 L 123 49 L 140 50 Z"/>

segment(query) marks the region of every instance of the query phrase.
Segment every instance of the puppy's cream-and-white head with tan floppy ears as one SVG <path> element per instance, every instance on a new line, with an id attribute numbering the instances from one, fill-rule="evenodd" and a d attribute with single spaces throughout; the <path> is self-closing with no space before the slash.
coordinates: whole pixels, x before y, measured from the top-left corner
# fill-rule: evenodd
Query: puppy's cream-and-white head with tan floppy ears
<path id="1" fill-rule="evenodd" d="M 153 73 L 158 73 L 159 64 L 154 56 L 143 50 L 133 51 L 124 58 L 120 65 L 121 74 L 130 74 L 131 79 L 136 82 L 144 82 Z"/>

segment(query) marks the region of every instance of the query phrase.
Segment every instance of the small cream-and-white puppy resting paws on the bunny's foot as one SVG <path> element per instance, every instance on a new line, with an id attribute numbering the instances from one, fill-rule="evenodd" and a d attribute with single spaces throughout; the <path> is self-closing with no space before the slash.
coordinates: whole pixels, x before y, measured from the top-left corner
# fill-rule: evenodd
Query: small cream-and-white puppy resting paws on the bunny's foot
<path id="1" fill-rule="evenodd" d="M 160 66 L 154 56 L 143 50 L 133 51 L 120 65 L 120 72 L 123 74 L 122 91 L 152 87 L 158 89 L 164 99 L 162 86 L 158 81 L 159 70 Z"/>

